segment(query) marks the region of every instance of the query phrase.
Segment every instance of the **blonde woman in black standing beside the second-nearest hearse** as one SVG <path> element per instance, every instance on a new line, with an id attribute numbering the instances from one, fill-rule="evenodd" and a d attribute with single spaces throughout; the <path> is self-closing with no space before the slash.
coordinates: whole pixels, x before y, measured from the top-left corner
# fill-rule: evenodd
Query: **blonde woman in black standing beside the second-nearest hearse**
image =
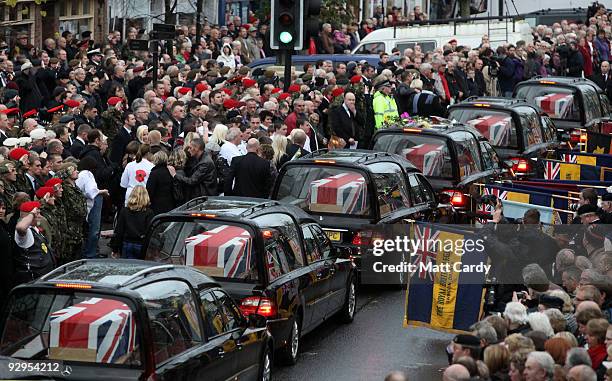
<path id="1" fill-rule="evenodd" d="M 121 252 L 122 258 L 142 259 L 142 244 L 154 217 L 150 206 L 147 189 L 142 185 L 134 187 L 128 198 L 127 207 L 121 209 L 117 218 L 115 234 L 110 243 L 113 258 L 118 258 Z"/>

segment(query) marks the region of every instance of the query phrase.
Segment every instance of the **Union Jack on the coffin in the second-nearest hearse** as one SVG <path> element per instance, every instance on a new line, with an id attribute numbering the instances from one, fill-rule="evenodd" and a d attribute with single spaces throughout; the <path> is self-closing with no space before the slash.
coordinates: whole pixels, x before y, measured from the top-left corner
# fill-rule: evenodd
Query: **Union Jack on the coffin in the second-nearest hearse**
<path id="1" fill-rule="evenodd" d="M 223 277 L 240 278 L 250 270 L 251 241 L 245 229 L 221 225 L 185 240 L 185 263 L 223 269 Z"/>

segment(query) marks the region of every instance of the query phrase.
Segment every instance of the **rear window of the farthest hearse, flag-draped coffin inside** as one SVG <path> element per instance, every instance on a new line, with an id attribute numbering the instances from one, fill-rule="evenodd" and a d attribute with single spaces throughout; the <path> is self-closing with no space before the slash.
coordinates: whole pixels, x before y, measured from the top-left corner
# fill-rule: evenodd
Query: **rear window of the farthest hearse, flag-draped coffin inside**
<path id="1" fill-rule="evenodd" d="M 580 121 L 581 105 L 571 89 L 534 83 L 521 86 L 516 98 L 524 98 L 540 107 L 552 119 Z"/>

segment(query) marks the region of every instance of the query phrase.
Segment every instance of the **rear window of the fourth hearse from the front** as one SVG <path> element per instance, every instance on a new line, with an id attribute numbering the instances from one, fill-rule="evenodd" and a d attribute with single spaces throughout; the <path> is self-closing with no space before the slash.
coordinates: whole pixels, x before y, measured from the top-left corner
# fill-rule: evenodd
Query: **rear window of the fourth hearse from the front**
<path id="1" fill-rule="evenodd" d="M 425 176 L 453 177 L 453 161 L 446 140 L 441 137 L 420 134 L 380 134 L 373 149 L 405 157 Z"/>

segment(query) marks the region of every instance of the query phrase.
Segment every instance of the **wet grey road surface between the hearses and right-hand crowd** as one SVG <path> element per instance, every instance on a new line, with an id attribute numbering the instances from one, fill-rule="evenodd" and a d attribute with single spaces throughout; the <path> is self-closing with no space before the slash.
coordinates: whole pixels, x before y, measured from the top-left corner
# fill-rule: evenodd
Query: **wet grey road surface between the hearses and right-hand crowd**
<path id="1" fill-rule="evenodd" d="M 330 320 L 302 339 L 299 361 L 277 367 L 277 380 L 383 380 L 391 370 L 409 380 L 440 380 L 452 335 L 402 327 L 405 291 L 362 287 L 355 321 Z"/>

